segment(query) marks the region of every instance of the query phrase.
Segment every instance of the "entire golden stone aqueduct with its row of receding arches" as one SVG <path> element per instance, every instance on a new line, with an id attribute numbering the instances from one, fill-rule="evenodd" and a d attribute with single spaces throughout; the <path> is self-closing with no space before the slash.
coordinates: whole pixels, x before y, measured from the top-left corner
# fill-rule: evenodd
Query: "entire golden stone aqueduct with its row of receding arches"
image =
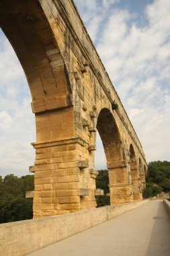
<path id="1" fill-rule="evenodd" d="M 142 146 L 73 0 L 1 0 L 0 26 L 32 94 L 34 218 L 96 206 L 96 130 L 107 159 L 111 205 L 142 199 Z"/>

